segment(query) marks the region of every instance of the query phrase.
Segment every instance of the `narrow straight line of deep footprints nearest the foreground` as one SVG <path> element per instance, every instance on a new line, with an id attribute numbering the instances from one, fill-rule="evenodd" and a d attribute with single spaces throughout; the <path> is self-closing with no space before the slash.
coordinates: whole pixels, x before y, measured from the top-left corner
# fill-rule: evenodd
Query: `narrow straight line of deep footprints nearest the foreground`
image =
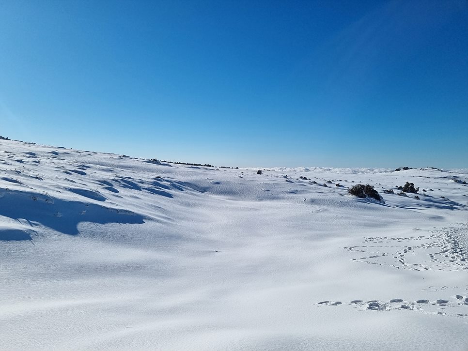
<path id="1" fill-rule="evenodd" d="M 457 318 L 468 318 L 467 313 L 450 313 L 450 309 L 454 307 L 468 307 L 468 296 L 465 295 L 454 295 L 452 298 L 455 301 L 437 299 L 436 301 L 429 301 L 426 299 L 420 299 L 417 301 L 409 302 L 403 299 L 391 299 L 390 301 L 379 301 L 379 300 L 353 300 L 350 302 L 341 301 L 320 301 L 317 302 L 317 306 L 340 306 L 340 305 L 351 305 L 359 311 L 372 310 L 372 311 L 390 311 L 390 310 L 413 310 L 420 311 L 422 313 L 450 316 Z M 457 309 L 457 312 L 460 308 Z"/>

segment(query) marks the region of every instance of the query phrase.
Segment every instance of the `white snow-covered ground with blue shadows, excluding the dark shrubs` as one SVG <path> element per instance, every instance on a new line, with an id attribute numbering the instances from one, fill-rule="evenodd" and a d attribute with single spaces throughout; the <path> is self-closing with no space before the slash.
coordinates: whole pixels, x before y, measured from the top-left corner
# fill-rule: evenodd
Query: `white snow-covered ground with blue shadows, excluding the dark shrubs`
<path id="1" fill-rule="evenodd" d="M 467 350 L 463 182 L 1 140 L 0 349 Z"/>

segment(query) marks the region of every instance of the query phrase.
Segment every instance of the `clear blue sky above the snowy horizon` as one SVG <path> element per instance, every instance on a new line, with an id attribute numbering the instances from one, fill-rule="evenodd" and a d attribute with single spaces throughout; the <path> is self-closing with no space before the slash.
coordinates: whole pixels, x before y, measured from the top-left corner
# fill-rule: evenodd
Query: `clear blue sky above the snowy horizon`
<path id="1" fill-rule="evenodd" d="M 468 167 L 468 2 L 0 0 L 0 134 L 218 166 Z"/>

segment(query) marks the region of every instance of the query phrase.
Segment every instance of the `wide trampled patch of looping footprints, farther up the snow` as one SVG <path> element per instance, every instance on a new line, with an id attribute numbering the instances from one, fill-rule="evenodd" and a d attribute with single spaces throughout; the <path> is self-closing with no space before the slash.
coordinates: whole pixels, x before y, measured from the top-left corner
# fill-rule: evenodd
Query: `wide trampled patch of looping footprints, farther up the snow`
<path id="1" fill-rule="evenodd" d="M 466 224 L 465 224 L 466 226 Z M 413 229 L 421 230 L 421 229 Z M 353 261 L 386 265 L 414 271 L 433 270 L 468 272 L 467 229 L 428 230 L 430 235 L 404 237 L 367 237 L 365 245 L 344 247 L 359 252 Z"/>

